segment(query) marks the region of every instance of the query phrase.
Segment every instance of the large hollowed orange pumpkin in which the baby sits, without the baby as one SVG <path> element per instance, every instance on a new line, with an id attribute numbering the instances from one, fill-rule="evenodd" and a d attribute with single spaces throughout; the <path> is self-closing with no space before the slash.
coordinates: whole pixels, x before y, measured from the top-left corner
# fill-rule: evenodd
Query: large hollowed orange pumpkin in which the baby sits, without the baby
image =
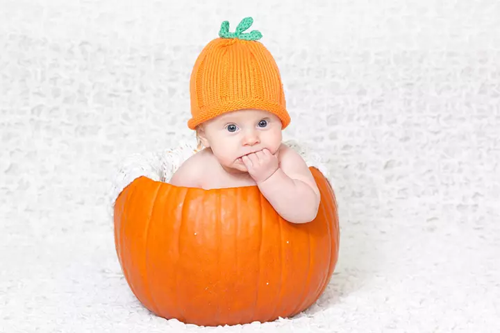
<path id="1" fill-rule="evenodd" d="M 216 326 L 274 321 L 313 305 L 338 260 L 335 194 L 316 168 L 314 221 L 279 216 L 258 187 L 197 189 L 136 178 L 115 202 L 115 246 L 154 314 Z"/>

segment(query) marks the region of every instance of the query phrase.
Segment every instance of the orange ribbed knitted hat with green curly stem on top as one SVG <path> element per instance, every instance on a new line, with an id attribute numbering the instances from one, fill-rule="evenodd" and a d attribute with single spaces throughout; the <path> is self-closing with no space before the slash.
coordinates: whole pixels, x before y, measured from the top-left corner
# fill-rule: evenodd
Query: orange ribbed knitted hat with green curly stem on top
<path id="1" fill-rule="evenodd" d="M 290 123 L 278 66 L 257 42 L 262 35 L 255 30 L 243 33 L 252 23 L 253 19 L 246 17 L 235 33 L 229 33 L 229 22 L 222 22 L 219 38 L 198 56 L 190 80 L 190 129 L 220 114 L 246 108 L 276 114 L 282 129 Z"/>

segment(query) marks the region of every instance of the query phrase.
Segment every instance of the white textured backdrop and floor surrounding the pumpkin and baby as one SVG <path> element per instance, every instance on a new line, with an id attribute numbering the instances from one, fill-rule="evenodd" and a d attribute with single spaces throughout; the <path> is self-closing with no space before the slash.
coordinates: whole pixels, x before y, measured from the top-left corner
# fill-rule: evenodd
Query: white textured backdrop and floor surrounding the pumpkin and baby
<path id="1" fill-rule="evenodd" d="M 340 259 L 293 319 L 151 316 L 107 216 L 123 157 L 192 138 L 228 20 L 281 69 L 285 138 L 327 157 Z M 0 0 L 0 332 L 499 332 L 500 3 Z"/>

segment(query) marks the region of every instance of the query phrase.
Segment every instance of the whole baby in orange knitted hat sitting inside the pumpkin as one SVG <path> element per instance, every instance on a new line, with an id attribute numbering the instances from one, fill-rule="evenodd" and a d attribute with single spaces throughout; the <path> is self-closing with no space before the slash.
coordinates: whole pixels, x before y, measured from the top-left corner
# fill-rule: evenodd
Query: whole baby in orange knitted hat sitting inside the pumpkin
<path id="1" fill-rule="evenodd" d="M 290 123 L 276 62 L 258 31 L 237 33 L 222 24 L 220 38 L 201 51 L 191 75 L 192 118 L 201 151 L 188 158 L 170 183 L 217 189 L 258 186 L 274 210 L 292 223 L 313 221 L 319 189 L 302 157 L 282 143 Z"/>

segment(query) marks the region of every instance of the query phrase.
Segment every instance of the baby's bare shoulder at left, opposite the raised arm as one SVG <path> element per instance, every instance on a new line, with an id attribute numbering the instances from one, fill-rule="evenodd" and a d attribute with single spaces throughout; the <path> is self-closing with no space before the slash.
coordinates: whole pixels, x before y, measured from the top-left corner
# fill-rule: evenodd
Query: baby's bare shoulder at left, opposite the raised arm
<path id="1" fill-rule="evenodd" d="M 172 176 L 170 184 L 183 187 L 201 187 L 203 169 L 210 163 L 210 154 L 199 151 L 185 160 Z"/>

